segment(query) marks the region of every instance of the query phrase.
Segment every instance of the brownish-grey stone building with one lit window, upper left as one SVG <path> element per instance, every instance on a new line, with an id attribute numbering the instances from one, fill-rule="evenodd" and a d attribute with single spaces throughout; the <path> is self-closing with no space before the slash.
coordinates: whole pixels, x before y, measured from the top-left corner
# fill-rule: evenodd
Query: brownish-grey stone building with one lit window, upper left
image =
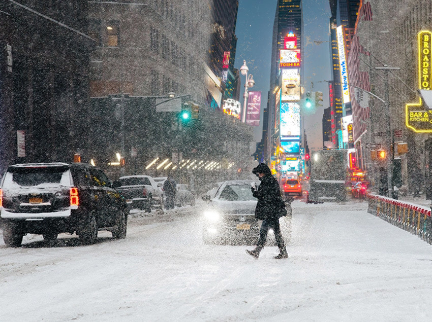
<path id="1" fill-rule="evenodd" d="M 97 40 L 91 53 L 92 97 L 175 92 L 205 100 L 207 1 L 113 0 L 92 1 L 88 6 L 89 33 Z"/>

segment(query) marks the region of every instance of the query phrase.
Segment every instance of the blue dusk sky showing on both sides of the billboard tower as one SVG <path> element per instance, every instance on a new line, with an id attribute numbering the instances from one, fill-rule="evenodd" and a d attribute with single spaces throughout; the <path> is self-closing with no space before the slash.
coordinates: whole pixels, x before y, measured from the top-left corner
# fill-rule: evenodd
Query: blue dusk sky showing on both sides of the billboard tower
<path id="1" fill-rule="evenodd" d="M 270 57 L 274 14 L 277 0 L 239 0 L 236 35 L 237 53 L 235 67 L 240 68 L 243 59 L 254 75 L 255 87 L 251 90 L 262 91 L 262 106 L 267 104 L 270 83 Z M 328 107 L 328 84 L 330 80 L 329 43 L 314 44 L 316 41 L 329 40 L 330 6 L 328 0 L 303 0 L 304 57 L 302 73 L 305 90 L 323 92 L 323 108 Z M 244 91 L 245 77 L 241 77 L 241 94 Z M 321 83 L 319 83 L 321 82 Z M 322 149 L 323 108 L 305 116 L 305 128 L 310 148 Z M 262 114 L 261 114 L 262 122 Z M 261 139 L 262 128 L 256 129 L 255 139 Z"/>

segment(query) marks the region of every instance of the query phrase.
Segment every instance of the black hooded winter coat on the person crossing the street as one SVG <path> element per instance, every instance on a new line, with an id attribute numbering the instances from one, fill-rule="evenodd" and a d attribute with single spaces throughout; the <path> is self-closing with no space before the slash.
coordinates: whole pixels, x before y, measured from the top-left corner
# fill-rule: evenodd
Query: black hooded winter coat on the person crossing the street
<path id="1" fill-rule="evenodd" d="M 264 173 L 260 178 L 258 189 L 253 189 L 252 194 L 258 199 L 255 208 L 255 218 L 258 220 L 279 219 L 286 216 L 285 203 L 282 200 L 281 189 L 277 180 L 271 175 L 270 169 L 264 163 L 252 170 L 253 173 Z"/>

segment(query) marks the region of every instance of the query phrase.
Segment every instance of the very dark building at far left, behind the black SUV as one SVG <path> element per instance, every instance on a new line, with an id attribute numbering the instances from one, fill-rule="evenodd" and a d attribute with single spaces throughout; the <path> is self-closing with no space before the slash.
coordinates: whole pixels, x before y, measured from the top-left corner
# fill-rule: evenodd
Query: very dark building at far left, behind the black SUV
<path id="1" fill-rule="evenodd" d="M 0 174 L 73 160 L 88 133 L 87 1 L 0 4 Z"/>

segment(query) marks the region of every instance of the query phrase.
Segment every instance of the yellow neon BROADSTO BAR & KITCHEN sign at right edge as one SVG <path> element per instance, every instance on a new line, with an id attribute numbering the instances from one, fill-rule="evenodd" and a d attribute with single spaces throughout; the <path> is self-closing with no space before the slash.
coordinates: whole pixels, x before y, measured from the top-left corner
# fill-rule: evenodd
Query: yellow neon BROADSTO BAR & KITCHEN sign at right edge
<path id="1" fill-rule="evenodd" d="M 418 41 L 418 87 L 422 90 L 431 90 L 431 63 L 432 63 L 432 33 L 421 30 L 417 34 Z M 405 124 L 418 133 L 432 133 L 432 110 L 428 110 L 422 99 L 418 103 L 405 105 Z"/>

